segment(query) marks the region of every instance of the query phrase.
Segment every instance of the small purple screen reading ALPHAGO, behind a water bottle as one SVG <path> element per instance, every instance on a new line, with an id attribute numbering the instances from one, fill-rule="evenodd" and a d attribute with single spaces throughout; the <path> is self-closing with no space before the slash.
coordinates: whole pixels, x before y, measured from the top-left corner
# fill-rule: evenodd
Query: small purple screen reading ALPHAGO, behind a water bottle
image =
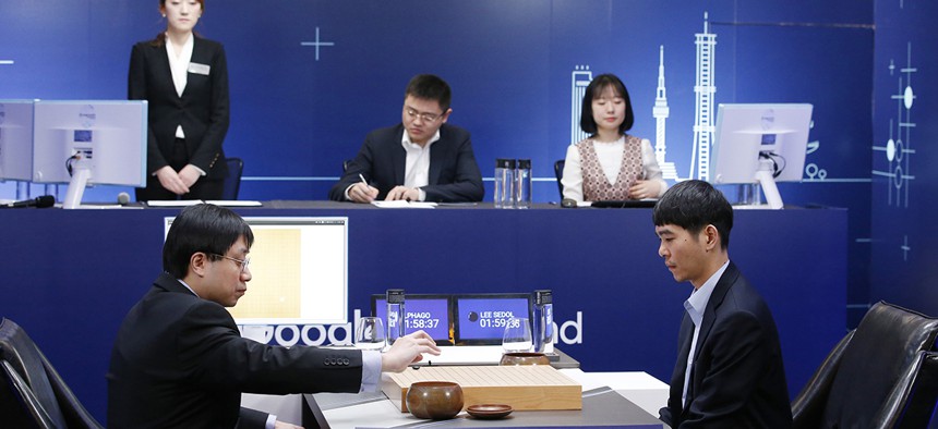
<path id="1" fill-rule="evenodd" d="M 452 345 L 450 295 L 406 294 L 404 305 L 405 333 L 423 330 L 437 345 Z M 371 296 L 371 314 L 384 320 L 387 327 L 387 298 L 385 294 Z"/>

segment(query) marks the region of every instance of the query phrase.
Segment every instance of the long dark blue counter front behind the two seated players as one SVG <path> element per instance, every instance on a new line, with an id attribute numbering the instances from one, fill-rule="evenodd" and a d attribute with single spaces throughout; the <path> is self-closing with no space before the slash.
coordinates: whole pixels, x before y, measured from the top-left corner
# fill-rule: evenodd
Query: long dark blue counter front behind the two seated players
<path id="1" fill-rule="evenodd" d="M 236 211 L 348 217 L 350 317 L 392 284 L 413 293 L 551 289 L 558 347 L 584 370 L 670 379 L 690 286 L 675 284 L 658 256 L 650 209 L 269 201 Z M 29 333 L 103 422 L 115 335 L 161 271 L 164 218 L 178 212 L 0 210 L 0 316 Z M 772 309 L 792 394 L 846 329 L 846 245 L 845 210 L 736 212 L 730 257 Z"/>

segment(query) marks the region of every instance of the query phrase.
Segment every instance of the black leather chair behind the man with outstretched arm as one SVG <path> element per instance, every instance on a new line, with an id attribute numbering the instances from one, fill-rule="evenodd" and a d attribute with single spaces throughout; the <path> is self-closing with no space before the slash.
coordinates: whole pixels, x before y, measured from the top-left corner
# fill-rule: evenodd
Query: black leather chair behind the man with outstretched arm
<path id="1" fill-rule="evenodd" d="M 0 416 L 11 428 L 101 428 L 20 326 L 0 321 Z"/>

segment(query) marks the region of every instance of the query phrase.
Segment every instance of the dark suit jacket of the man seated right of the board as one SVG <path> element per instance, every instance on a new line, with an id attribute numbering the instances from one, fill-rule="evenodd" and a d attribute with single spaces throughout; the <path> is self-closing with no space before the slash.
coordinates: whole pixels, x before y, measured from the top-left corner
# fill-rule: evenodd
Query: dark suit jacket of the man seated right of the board
<path id="1" fill-rule="evenodd" d="M 694 322 L 685 312 L 668 407 L 672 428 L 791 428 L 779 333 L 762 297 L 731 261 L 700 326 L 685 408 L 681 401 Z"/>

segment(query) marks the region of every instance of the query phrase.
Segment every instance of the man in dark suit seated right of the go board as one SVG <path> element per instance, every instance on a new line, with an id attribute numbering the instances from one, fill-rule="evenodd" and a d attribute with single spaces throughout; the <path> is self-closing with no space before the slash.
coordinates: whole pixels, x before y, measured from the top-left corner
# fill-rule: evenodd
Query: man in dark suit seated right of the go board
<path id="1" fill-rule="evenodd" d="M 661 197 L 652 220 L 664 265 L 694 286 L 661 420 L 684 429 L 791 428 L 775 322 L 730 261 L 733 207 L 709 183 L 685 181 Z"/>

